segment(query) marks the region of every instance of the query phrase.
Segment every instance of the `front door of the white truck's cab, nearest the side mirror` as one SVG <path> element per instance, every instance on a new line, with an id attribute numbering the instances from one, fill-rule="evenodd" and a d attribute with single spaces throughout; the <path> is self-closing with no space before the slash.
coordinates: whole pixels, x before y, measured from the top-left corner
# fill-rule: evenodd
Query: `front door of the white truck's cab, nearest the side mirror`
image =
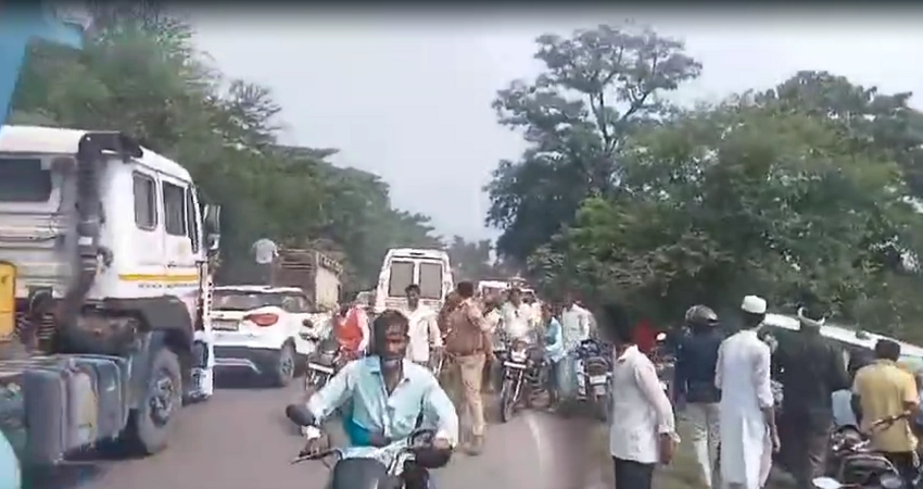
<path id="1" fill-rule="evenodd" d="M 170 294 L 180 299 L 190 299 L 190 313 L 194 314 L 194 299 L 199 292 L 199 266 L 193 247 L 200 247 L 193 236 L 198 229 L 190 229 L 187 222 L 187 189 L 189 184 L 169 175 L 160 175 L 161 200 L 164 208 L 164 261 L 166 274 L 164 280 Z"/>

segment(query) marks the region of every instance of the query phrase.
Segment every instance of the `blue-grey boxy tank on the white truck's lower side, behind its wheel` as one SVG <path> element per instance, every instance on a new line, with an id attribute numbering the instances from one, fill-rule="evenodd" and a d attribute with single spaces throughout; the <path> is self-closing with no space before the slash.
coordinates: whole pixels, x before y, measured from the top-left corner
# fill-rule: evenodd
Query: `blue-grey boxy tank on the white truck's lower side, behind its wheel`
<path id="1" fill-rule="evenodd" d="M 0 361 L 0 421 L 24 464 L 53 465 L 118 436 L 128 417 L 127 368 L 123 359 L 104 355 Z"/>

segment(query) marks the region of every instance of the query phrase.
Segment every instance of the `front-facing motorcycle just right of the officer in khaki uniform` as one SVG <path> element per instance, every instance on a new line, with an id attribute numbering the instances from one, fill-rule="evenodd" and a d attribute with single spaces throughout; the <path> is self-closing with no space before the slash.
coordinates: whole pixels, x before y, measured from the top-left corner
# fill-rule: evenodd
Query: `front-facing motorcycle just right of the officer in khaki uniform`
<path id="1" fill-rule="evenodd" d="M 520 401 L 524 401 L 526 408 L 532 406 L 532 397 L 541 393 L 547 385 L 547 373 L 542 349 L 530 347 L 522 340 L 513 341 L 500 359 L 503 378 L 500 388 L 500 417 L 506 423 L 516 414 Z"/>

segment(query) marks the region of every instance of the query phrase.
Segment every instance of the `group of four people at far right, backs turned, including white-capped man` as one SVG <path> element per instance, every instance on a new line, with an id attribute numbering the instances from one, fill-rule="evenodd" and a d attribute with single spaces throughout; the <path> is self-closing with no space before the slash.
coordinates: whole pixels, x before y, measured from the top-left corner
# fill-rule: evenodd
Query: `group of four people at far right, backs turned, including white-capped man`
<path id="1" fill-rule="evenodd" d="M 784 443 L 786 468 L 798 489 L 811 488 L 826 469 L 832 430 L 844 424 L 868 431 L 872 447 L 912 480 L 911 422 L 901 418 L 870 430 L 877 419 L 919 410 L 914 376 L 898 364 L 900 344 L 882 339 L 873 358 L 857 352 L 847 368 L 843 352 L 821 335 L 822 311 L 801 308 L 796 341 L 780 349 L 763 327 L 766 310 L 763 299 L 744 298 L 743 328 L 726 337 L 710 308 L 696 305 L 686 313 L 677 341 L 674 401 L 692 424 L 690 441 L 704 481 L 764 488 Z M 773 374 L 781 390 L 773 389 Z"/>

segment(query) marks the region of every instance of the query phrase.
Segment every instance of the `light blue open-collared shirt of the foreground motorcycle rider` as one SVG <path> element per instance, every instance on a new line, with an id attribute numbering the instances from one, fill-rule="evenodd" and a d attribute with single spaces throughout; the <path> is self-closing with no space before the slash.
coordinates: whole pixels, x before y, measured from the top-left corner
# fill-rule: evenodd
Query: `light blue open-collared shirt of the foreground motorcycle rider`
<path id="1" fill-rule="evenodd" d="M 346 364 L 311 397 L 307 408 L 318 422 L 323 422 L 347 402 L 353 439 L 361 439 L 362 431 L 381 432 L 391 440 L 406 438 L 414 431 L 417 416 L 422 412 L 425 426 L 434 426 L 438 436 L 448 439 L 453 446 L 458 443 L 455 406 L 432 373 L 409 360 L 404 360 L 404 377 L 390 396 L 379 358 L 372 355 Z M 370 448 L 355 447 L 347 456 L 362 456 L 362 449 Z"/>

